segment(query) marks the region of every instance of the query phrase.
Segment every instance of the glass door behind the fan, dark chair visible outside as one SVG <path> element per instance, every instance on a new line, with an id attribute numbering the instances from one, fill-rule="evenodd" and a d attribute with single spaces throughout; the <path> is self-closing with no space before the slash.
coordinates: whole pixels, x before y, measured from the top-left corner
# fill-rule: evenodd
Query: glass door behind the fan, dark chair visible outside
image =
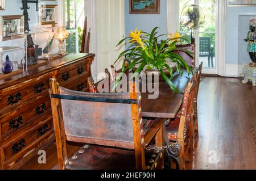
<path id="1" fill-rule="evenodd" d="M 216 60 L 216 22 L 218 0 L 180 0 L 180 13 L 187 5 L 199 5 L 205 15 L 205 23 L 195 30 L 193 37 L 196 40 L 196 64 L 203 62 L 204 73 L 217 74 Z M 191 31 L 180 25 L 180 33 L 187 39 L 191 37 Z"/>

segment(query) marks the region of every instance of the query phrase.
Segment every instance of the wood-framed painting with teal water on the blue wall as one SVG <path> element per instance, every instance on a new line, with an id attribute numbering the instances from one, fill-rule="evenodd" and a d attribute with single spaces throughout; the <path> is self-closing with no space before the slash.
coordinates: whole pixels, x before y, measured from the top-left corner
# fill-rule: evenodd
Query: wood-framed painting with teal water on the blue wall
<path id="1" fill-rule="evenodd" d="M 130 0 L 130 14 L 160 14 L 160 0 Z"/>

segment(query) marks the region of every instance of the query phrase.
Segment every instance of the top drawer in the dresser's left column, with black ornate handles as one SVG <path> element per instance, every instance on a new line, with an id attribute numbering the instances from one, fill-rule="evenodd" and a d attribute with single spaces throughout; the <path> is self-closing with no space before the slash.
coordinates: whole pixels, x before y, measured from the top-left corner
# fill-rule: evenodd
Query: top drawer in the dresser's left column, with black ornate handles
<path id="1" fill-rule="evenodd" d="M 3 89 L 0 97 L 0 112 L 8 108 L 16 108 L 19 104 L 48 92 L 49 78 L 51 77 L 52 74 L 46 74 L 20 83 L 19 85 Z"/>

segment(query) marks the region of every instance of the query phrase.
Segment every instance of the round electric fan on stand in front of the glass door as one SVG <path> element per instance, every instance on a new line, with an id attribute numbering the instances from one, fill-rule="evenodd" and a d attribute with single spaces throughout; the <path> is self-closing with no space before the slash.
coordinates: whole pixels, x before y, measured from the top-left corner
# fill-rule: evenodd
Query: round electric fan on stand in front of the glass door
<path id="1" fill-rule="evenodd" d="M 180 14 L 180 24 L 184 28 L 191 30 L 191 41 L 193 39 L 193 31 L 200 28 L 204 24 L 204 11 L 200 6 L 185 6 Z"/>

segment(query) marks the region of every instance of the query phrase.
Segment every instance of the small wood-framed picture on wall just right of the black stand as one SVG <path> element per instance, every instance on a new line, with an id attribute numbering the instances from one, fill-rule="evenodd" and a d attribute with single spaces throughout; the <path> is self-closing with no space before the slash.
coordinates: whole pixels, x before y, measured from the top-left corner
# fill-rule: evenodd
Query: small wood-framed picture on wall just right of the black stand
<path id="1" fill-rule="evenodd" d="M 57 24 L 57 5 L 42 5 L 39 10 L 40 24 Z"/>

